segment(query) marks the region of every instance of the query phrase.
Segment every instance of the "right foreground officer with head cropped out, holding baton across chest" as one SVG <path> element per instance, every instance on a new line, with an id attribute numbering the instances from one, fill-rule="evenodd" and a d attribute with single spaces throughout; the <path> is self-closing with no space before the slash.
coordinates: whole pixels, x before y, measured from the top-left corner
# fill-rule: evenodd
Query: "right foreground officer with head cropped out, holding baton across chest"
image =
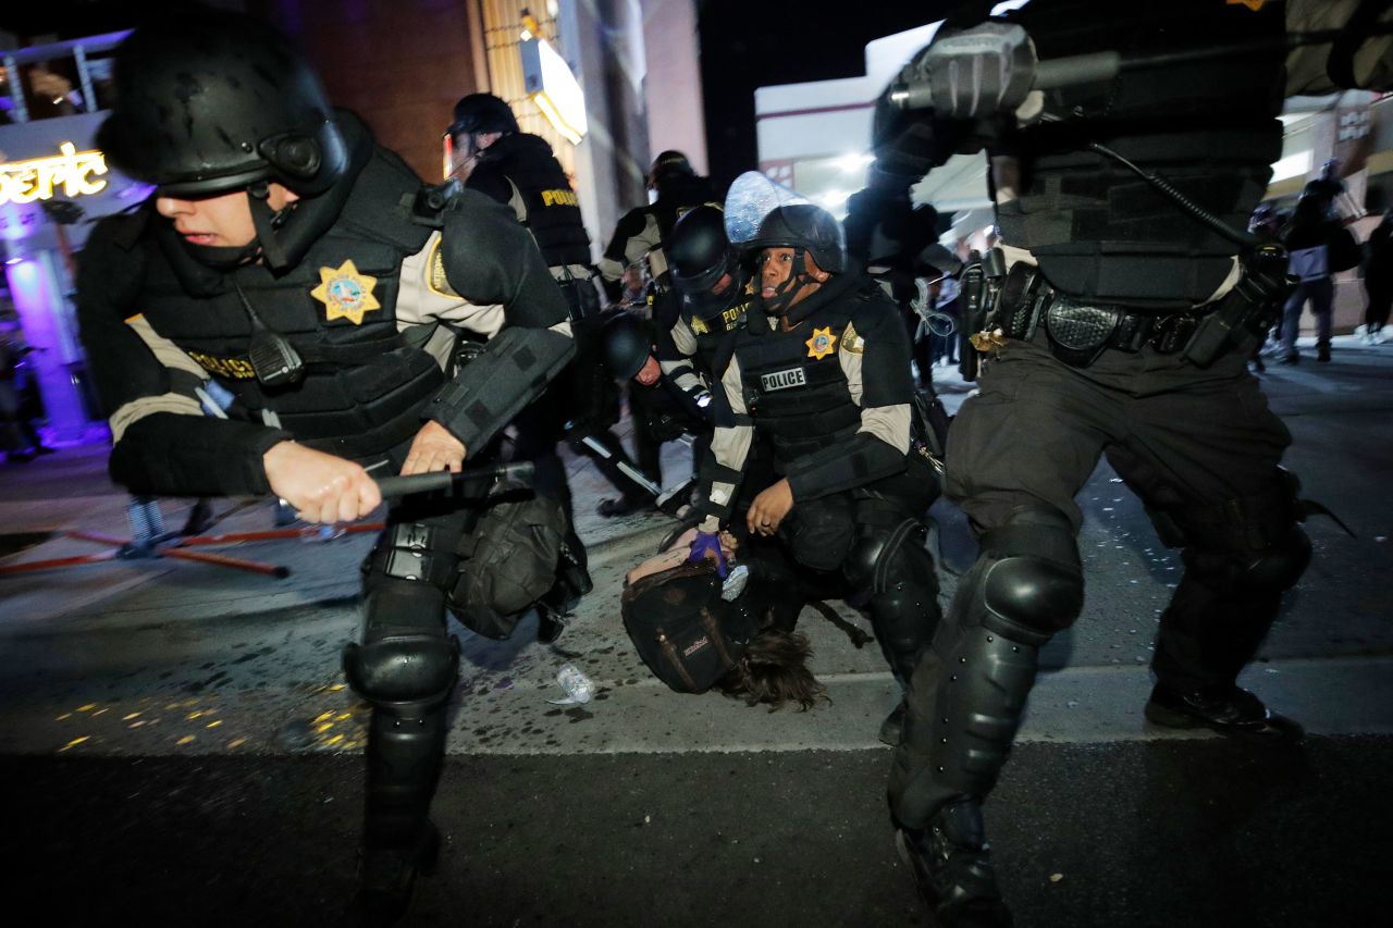
<path id="1" fill-rule="evenodd" d="M 1183 549 L 1146 718 L 1300 738 L 1236 684 L 1311 556 L 1295 479 L 1279 468 L 1290 435 L 1245 369 L 1280 305 L 1284 255 L 1241 229 L 1282 155 L 1284 93 L 1386 86 L 1393 64 L 1387 39 L 1361 32 L 1386 3 L 1060 0 L 985 21 L 989 8 L 940 26 L 876 127 L 875 171 L 905 184 L 986 146 L 1003 241 L 964 279 L 997 294 L 976 336 L 992 359 L 947 454 L 947 493 L 981 553 L 915 669 L 890 779 L 901 849 L 951 925 L 1011 921 L 981 804 L 1039 649 L 1082 608 L 1074 495 L 1100 454 Z M 1347 24 L 1333 45 L 1284 52 L 1289 31 Z M 1167 57 L 1202 47 L 1215 54 Z M 1036 56 L 1105 49 L 1156 57 L 1032 92 Z"/>

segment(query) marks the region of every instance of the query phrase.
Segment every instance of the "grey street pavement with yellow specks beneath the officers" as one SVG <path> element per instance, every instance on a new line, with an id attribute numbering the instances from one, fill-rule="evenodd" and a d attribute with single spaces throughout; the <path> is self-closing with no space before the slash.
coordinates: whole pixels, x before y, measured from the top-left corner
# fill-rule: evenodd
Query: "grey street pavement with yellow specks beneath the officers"
<path id="1" fill-rule="evenodd" d="M 939 369 L 950 407 L 970 385 Z M 1088 601 L 1043 655 L 1020 745 L 988 804 L 1017 924 L 1346 925 L 1386 918 L 1393 812 L 1393 346 L 1337 339 L 1332 364 L 1270 366 L 1287 465 L 1353 529 L 1312 520 L 1316 559 L 1243 683 L 1307 725 L 1258 751 L 1141 718 L 1156 617 L 1180 573 L 1102 464 L 1080 495 Z M 669 446 L 667 482 L 688 470 Z M 814 610 L 800 628 L 829 701 L 766 712 L 667 691 L 618 620 L 624 571 L 670 520 L 603 520 L 571 460 L 593 594 L 554 645 L 528 619 L 464 642 L 435 817 L 440 872 L 412 924 L 928 924 L 883 807 L 894 702 L 875 645 Z M 104 449 L 0 465 L 0 567 L 130 536 Z M 177 527 L 188 502 L 163 500 Z M 215 532 L 269 531 L 219 500 Z M 935 506 L 944 567 L 974 545 Z M 304 528 L 304 527 L 299 527 Z M 361 810 L 364 706 L 338 651 L 357 630 L 371 534 L 202 548 L 283 580 L 171 557 L 0 575 L 0 872 L 35 922 L 334 924 Z M 866 620 L 832 603 L 848 621 Z M 557 669 L 591 676 L 588 705 Z M 26 922 L 21 922 L 26 924 Z"/>

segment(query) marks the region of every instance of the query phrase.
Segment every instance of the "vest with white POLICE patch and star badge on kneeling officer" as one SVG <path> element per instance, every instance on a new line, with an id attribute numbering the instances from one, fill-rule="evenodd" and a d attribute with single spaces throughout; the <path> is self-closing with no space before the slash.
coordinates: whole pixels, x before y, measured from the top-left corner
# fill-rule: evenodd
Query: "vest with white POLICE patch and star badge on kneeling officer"
<path id="1" fill-rule="evenodd" d="M 837 359 L 851 305 L 840 300 L 814 312 L 793 332 L 752 334 L 747 329 L 736 336 L 745 408 L 755 428 L 772 439 L 775 470 L 780 474 L 804 454 L 850 442 L 861 428 L 861 407 L 851 401 Z"/>

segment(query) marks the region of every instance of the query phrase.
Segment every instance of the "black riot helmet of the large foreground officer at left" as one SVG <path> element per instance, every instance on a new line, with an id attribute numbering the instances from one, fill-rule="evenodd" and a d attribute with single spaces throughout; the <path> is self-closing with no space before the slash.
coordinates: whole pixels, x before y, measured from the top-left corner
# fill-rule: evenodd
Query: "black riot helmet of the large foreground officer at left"
<path id="1" fill-rule="evenodd" d="M 315 196 L 348 164 L 305 60 L 274 29 L 220 11 L 142 26 L 121 43 L 98 145 L 170 196 L 255 194 L 269 181 Z"/>

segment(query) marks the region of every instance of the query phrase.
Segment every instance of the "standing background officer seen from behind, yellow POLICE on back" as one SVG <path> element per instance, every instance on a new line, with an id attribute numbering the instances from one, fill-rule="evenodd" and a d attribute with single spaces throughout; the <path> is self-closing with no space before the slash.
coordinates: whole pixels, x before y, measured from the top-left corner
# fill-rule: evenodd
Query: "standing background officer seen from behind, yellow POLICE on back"
<path id="1" fill-rule="evenodd" d="M 617 418 L 613 378 L 605 371 L 596 339 L 600 295 L 591 268 L 591 237 L 581 219 L 581 203 L 570 178 L 546 139 L 521 131 L 513 110 L 492 93 L 469 93 L 454 105 L 454 121 L 446 130 L 450 141 L 451 177 L 469 190 L 508 205 L 518 222 L 536 240 L 542 258 L 566 297 L 571 312 L 575 359 L 557 379 L 546 399 L 528 407 L 514 425 L 513 454 L 536 464 L 534 486 L 557 495 L 567 516 L 566 542 L 557 571 L 557 585 L 542 602 L 540 637 L 554 640 L 566 613 L 591 591 L 585 546 L 575 534 L 571 493 L 556 443 L 571 424 L 573 435 L 598 433 L 613 447 L 606 418 Z M 589 454 L 612 479 L 609 460 L 579 440 L 573 447 Z M 623 485 L 623 484 L 621 484 Z"/>

